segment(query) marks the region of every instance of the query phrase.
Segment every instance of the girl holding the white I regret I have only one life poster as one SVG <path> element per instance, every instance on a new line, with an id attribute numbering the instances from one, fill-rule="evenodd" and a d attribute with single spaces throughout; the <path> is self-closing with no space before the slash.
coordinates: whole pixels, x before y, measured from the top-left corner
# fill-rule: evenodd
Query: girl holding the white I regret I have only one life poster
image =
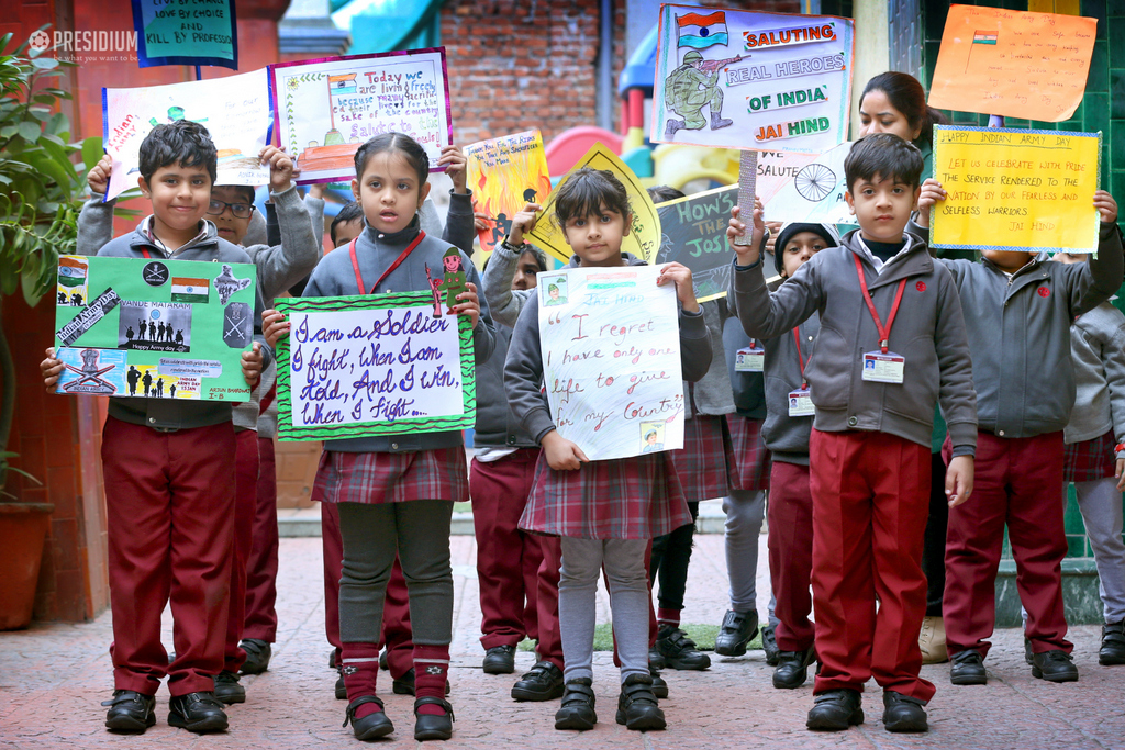
<path id="1" fill-rule="evenodd" d="M 631 211 L 624 186 L 612 172 L 580 169 L 559 188 L 554 219 L 574 250 L 572 268 L 642 265 L 622 254 Z M 513 222 L 504 244 L 519 247 L 531 226 Z M 515 251 L 513 251 L 515 252 Z M 699 380 L 711 361 L 711 346 L 691 271 L 670 263 L 657 283 L 675 282 L 680 315 L 681 361 L 686 380 Z M 542 445 L 536 481 L 520 527 L 561 536 L 559 622 L 566 692 L 555 714 L 556 729 L 592 729 L 592 658 L 597 573 L 605 566 L 610 607 L 621 654 L 621 695 L 616 722 L 631 730 L 664 729 L 664 713 L 652 694 L 647 657 L 649 595 L 645 550 L 691 516 L 667 453 L 590 463 L 582 449 L 555 430 L 541 392 L 543 353 L 539 342 L 539 304 L 531 298 L 512 334 L 504 381 L 512 410 Z M 584 466 L 585 464 L 585 466 Z M 627 523 L 626 519 L 629 519 Z"/>

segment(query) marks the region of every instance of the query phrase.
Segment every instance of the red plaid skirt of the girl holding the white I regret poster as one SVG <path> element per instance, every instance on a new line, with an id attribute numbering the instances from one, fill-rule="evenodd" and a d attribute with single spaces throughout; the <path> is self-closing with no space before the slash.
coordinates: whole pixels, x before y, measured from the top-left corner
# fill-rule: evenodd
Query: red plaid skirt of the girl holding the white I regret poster
<path id="1" fill-rule="evenodd" d="M 555 471 L 539 454 L 520 528 L 576 539 L 655 539 L 692 523 L 668 451 Z"/>

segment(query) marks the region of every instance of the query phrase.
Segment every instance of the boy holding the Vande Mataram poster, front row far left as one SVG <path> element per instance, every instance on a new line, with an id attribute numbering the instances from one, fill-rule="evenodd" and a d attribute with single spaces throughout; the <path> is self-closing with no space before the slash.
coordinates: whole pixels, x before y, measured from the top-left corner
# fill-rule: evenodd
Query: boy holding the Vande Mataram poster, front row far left
<path id="1" fill-rule="evenodd" d="M 277 160 L 280 172 L 282 161 L 284 155 Z M 98 255 L 251 262 L 204 219 L 214 205 L 216 162 L 215 145 L 202 126 L 182 120 L 153 128 L 141 145 L 138 181 L 153 214 Z M 261 293 L 255 305 L 262 307 Z M 258 385 L 263 361 L 272 361 L 258 331 L 259 343 L 242 358 L 251 387 Z M 53 350 L 47 351 L 42 369 L 51 390 L 61 364 Z M 227 726 L 213 676 L 224 666 L 234 577 L 236 439 L 231 412 L 222 401 L 110 399 L 102 436 L 106 493 L 111 498 L 110 652 L 116 688 L 112 701 L 104 704 L 110 706 L 109 729 L 143 732 L 152 726 L 153 696 L 165 674 L 171 676 L 170 724 L 192 732 Z M 146 446 L 143 455 L 137 445 Z M 160 642 L 169 596 L 177 651 L 171 665 Z"/>

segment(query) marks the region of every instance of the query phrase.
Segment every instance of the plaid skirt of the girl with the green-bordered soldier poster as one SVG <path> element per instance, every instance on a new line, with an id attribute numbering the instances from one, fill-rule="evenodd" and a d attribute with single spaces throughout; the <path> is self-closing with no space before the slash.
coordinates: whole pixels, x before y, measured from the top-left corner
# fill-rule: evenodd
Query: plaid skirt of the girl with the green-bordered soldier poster
<path id="1" fill-rule="evenodd" d="M 313 499 L 321 503 L 405 503 L 469 499 L 465 448 L 405 453 L 324 451 Z"/>

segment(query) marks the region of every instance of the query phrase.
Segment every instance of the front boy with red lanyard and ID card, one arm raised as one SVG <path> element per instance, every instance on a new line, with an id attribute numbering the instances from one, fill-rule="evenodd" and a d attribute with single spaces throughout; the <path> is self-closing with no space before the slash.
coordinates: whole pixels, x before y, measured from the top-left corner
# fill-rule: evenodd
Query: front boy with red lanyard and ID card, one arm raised
<path id="1" fill-rule="evenodd" d="M 786 334 L 820 313 L 817 350 L 804 367 L 816 408 L 809 486 L 822 663 L 808 726 L 840 731 L 862 723 L 860 693 L 874 677 L 883 687 L 886 729 L 921 732 L 928 728 L 922 706 L 934 696 L 918 674 L 917 640 L 926 609 L 919 562 L 929 436 L 939 396 L 954 445 L 946 491 L 960 504 L 972 491 L 976 440 L 969 344 L 950 273 L 925 243 L 903 234 L 921 154 L 881 133 L 856 142 L 844 166 L 860 229 L 770 295 L 757 268 L 760 214 L 749 245 L 735 244 L 745 231 L 736 215 L 727 231 L 738 255 L 734 288 L 750 336 Z M 884 365 L 879 380 L 865 374 L 865 361 Z"/>

